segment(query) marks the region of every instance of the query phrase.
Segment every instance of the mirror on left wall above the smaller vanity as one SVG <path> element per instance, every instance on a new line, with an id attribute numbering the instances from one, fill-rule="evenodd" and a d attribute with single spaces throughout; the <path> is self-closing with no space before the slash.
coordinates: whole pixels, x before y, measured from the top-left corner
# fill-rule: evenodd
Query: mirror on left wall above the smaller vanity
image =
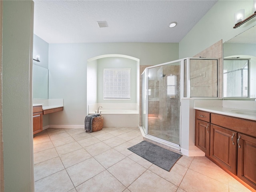
<path id="1" fill-rule="evenodd" d="M 48 99 L 48 69 L 33 64 L 33 99 Z"/>

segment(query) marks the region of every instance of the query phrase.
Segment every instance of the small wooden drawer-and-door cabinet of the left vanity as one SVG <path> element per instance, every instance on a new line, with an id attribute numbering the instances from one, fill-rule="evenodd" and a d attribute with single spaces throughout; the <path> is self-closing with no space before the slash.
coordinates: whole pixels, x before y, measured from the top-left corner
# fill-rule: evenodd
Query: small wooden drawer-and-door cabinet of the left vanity
<path id="1" fill-rule="evenodd" d="M 33 106 L 33 134 L 43 130 L 43 108 L 42 106 Z"/>

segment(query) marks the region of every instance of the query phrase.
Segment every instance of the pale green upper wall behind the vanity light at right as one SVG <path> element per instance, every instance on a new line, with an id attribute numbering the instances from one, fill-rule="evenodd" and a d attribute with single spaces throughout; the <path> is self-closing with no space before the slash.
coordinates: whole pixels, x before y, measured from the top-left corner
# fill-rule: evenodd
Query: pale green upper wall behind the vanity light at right
<path id="1" fill-rule="evenodd" d="M 179 58 L 193 57 L 219 40 L 223 43 L 256 24 L 255 18 L 234 29 L 234 13 L 254 13 L 253 0 L 219 0 L 179 43 Z"/>

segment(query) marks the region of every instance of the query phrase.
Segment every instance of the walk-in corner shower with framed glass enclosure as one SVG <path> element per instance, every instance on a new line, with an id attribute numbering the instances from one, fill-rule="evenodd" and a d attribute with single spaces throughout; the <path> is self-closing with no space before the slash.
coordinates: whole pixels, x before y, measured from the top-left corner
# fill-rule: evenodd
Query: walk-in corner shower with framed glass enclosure
<path id="1" fill-rule="evenodd" d="M 147 67 L 140 120 L 145 136 L 180 147 L 181 100 L 217 98 L 217 80 L 218 59 L 185 58 Z"/>

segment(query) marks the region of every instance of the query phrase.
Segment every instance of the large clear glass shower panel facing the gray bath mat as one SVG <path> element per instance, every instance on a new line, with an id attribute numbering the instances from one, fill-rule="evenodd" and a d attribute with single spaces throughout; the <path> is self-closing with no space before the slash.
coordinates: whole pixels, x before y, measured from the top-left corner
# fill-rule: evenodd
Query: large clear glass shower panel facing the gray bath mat
<path id="1" fill-rule="evenodd" d="M 180 62 L 148 68 L 148 135 L 180 145 Z"/>

